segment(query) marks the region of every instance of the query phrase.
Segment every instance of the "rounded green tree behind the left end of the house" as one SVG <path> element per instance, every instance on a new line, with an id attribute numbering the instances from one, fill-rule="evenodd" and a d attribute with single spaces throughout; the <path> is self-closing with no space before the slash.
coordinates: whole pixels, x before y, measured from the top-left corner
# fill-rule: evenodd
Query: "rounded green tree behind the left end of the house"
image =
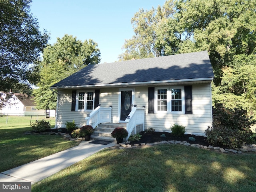
<path id="1" fill-rule="evenodd" d="M 93 40 L 81 42 L 72 35 L 57 38 L 54 45 L 48 45 L 43 60 L 36 66 L 40 71 L 38 89 L 34 90 L 38 109 L 56 109 L 57 92 L 50 86 L 70 76 L 89 64 L 100 62 L 100 50 Z"/>

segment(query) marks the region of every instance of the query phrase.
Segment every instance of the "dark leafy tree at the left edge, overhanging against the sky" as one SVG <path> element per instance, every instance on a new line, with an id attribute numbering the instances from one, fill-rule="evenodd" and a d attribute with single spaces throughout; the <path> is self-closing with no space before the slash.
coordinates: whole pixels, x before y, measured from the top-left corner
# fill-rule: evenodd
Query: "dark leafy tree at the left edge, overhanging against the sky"
<path id="1" fill-rule="evenodd" d="M 31 0 L 0 1 L 0 90 L 27 90 L 36 79 L 32 64 L 49 36 L 30 13 Z"/>

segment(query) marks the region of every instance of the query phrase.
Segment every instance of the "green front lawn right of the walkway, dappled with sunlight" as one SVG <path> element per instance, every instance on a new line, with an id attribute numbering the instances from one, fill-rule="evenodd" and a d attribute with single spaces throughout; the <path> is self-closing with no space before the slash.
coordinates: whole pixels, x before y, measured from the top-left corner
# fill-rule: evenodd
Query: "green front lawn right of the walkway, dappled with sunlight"
<path id="1" fill-rule="evenodd" d="M 102 150 L 32 186 L 32 192 L 254 192 L 256 155 L 182 145 Z"/>

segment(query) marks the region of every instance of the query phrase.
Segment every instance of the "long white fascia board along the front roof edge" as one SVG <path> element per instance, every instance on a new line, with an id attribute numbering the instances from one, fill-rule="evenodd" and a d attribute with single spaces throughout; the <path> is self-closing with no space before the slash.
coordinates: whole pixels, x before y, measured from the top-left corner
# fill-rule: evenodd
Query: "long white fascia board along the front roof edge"
<path id="1" fill-rule="evenodd" d="M 197 78 L 197 79 L 178 79 L 164 81 L 147 81 L 147 82 L 128 82 L 128 83 L 109 83 L 96 85 L 77 85 L 77 86 L 58 86 L 50 87 L 51 89 L 71 89 L 71 88 L 90 88 L 90 87 L 112 87 L 112 86 L 131 86 L 131 85 L 146 85 L 146 84 L 161 84 L 161 83 L 178 83 L 178 82 L 196 82 L 196 81 L 212 81 L 213 78 Z"/>

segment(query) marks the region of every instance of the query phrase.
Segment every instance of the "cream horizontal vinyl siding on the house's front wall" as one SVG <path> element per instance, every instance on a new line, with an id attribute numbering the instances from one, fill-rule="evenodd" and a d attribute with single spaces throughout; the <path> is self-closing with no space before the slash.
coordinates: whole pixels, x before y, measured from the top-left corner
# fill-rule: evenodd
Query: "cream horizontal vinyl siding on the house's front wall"
<path id="1" fill-rule="evenodd" d="M 172 87 L 172 86 L 168 86 Z M 179 87 L 179 86 L 178 86 Z M 148 87 L 135 86 L 134 104 L 137 108 L 145 106 L 145 129 L 152 127 L 156 131 L 170 132 L 173 124 L 186 126 L 186 133 L 204 135 L 208 126 L 212 124 L 211 84 L 192 85 L 192 107 L 193 114 L 148 114 Z M 157 86 L 155 87 L 158 88 Z M 118 94 L 119 88 L 98 88 L 100 89 L 101 107 L 112 106 L 111 122 L 118 123 Z M 77 93 L 79 90 L 77 90 Z M 57 126 L 65 127 L 66 121 L 74 121 L 78 126 L 86 124 L 84 118 L 90 111 L 71 111 L 72 90 L 59 90 Z"/>

